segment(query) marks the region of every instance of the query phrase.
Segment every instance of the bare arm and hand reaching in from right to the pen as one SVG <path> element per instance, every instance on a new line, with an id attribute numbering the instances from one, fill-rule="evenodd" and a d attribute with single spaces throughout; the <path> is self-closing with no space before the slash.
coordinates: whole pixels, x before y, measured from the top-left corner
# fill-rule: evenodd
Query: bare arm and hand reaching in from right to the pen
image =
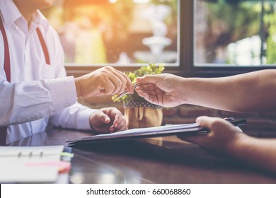
<path id="1" fill-rule="evenodd" d="M 137 93 L 163 106 L 201 105 L 234 112 L 276 109 L 276 70 L 222 78 L 181 78 L 171 74 L 137 78 Z"/>

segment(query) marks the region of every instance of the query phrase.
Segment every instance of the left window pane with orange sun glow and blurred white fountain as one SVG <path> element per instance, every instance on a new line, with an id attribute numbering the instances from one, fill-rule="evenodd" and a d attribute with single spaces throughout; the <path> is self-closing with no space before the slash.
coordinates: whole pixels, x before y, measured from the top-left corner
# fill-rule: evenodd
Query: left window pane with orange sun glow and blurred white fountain
<path id="1" fill-rule="evenodd" d="M 67 65 L 179 65 L 178 0 L 59 0 L 42 11 Z"/>

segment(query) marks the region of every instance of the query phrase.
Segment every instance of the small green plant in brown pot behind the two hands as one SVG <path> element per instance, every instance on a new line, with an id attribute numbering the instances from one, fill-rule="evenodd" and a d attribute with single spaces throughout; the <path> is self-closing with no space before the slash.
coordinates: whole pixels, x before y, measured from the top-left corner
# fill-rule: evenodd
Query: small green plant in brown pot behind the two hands
<path id="1" fill-rule="evenodd" d="M 137 77 L 161 74 L 164 66 L 156 66 L 156 64 L 149 64 L 142 66 L 134 72 L 127 72 L 127 76 L 132 83 L 136 82 Z M 124 95 L 122 98 L 113 96 L 114 102 L 123 102 L 124 115 L 127 120 L 127 127 L 129 129 L 141 127 L 158 127 L 163 120 L 163 112 L 161 106 L 149 103 L 144 98 L 140 97 L 136 91 L 133 94 Z"/>

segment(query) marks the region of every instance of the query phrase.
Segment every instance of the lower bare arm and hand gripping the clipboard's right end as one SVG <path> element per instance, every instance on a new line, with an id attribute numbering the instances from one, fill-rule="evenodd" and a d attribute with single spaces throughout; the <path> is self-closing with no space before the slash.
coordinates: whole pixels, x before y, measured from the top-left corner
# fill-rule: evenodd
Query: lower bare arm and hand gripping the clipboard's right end
<path id="1" fill-rule="evenodd" d="M 198 117 L 197 123 L 209 128 L 209 134 L 178 137 L 253 167 L 276 173 L 276 139 L 248 136 L 221 118 Z"/>

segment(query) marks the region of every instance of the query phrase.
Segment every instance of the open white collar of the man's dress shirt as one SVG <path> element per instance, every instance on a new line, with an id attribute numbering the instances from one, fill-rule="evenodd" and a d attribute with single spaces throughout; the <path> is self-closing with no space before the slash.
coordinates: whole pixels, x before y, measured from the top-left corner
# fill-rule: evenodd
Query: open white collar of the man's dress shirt
<path id="1" fill-rule="evenodd" d="M 7 28 L 10 28 L 11 25 L 16 23 L 19 18 L 22 20 L 24 19 L 16 7 L 16 4 L 14 4 L 12 0 L 0 0 L 0 10 L 2 13 L 3 22 Z M 42 28 L 44 28 L 46 31 L 49 29 L 49 22 L 40 11 L 35 12 L 31 23 L 34 23 L 35 26 L 42 25 Z"/>

